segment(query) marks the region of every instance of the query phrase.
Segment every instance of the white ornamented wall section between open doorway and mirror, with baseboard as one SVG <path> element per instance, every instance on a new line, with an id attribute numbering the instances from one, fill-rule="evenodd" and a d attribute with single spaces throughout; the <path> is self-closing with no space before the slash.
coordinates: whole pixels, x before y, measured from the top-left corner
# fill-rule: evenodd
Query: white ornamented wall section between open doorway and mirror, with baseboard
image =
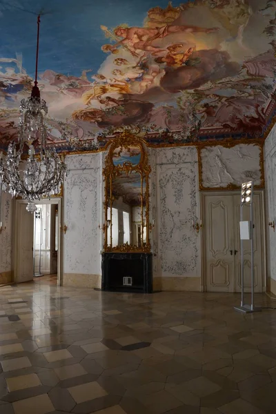
<path id="1" fill-rule="evenodd" d="M 66 157 L 64 185 L 63 284 L 94 287 L 101 275 L 101 153 Z M 87 275 L 87 276 L 85 276 Z M 82 281 L 82 282 L 81 282 Z"/>

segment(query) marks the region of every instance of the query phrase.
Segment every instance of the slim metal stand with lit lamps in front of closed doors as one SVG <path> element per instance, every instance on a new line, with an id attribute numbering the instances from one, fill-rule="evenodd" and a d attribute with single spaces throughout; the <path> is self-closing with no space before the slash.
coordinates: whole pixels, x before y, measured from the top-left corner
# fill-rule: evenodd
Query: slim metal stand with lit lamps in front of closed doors
<path id="1" fill-rule="evenodd" d="M 236 311 L 242 313 L 253 313 L 253 312 L 260 312 L 262 308 L 257 308 L 254 305 L 254 224 L 253 224 L 253 181 L 248 181 L 247 183 L 242 184 L 242 197 L 241 197 L 241 208 L 240 208 L 240 226 L 244 223 L 244 214 L 243 208 L 244 206 L 250 205 L 250 221 L 249 221 L 249 237 L 244 237 L 242 232 L 240 234 L 240 243 L 241 243 L 241 290 L 242 290 L 242 298 L 241 298 L 241 306 L 234 306 Z M 250 238 L 250 247 L 251 247 L 251 304 L 247 305 L 244 304 L 244 246 L 243 241 L 244 239 Z"/>

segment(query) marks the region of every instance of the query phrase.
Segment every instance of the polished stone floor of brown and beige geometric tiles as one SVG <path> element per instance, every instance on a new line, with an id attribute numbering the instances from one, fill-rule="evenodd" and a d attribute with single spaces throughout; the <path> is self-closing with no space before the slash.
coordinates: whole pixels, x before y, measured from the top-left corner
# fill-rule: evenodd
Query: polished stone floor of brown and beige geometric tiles
<path id="1" fill-rule="evenodd" d="M 257 302 L 1 287 L 0 413 L 275 414 L 276 301 Z"/>

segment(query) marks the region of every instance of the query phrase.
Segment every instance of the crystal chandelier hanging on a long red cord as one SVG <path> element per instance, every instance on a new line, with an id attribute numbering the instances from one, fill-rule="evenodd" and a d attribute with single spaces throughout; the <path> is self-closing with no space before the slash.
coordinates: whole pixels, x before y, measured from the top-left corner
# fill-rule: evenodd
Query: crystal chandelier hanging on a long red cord
<path id="1" fill-rule="evenodd" d="M 44 115 L 48 108 L 46 101 L 40 98 L 37 86 L 39 25 L 40 16 L 37 17 L 35 81 L 31 96 L 21 101 L 18 141 L 10 143 L 6 157 L 0 153 L 0 181 L 3 191 L 8 191 L 12 197 L 19 196 L 28 200 L 27 210 L 31 213 L 37 210 L 34 201 L 59 193 L 59 187 L 66 177 L 63 156 L 60 159 L 55 149 L 46 149 L 48 128 L 44 124 Z M 28 155 L 24 157 L 26 146 Z"/>

